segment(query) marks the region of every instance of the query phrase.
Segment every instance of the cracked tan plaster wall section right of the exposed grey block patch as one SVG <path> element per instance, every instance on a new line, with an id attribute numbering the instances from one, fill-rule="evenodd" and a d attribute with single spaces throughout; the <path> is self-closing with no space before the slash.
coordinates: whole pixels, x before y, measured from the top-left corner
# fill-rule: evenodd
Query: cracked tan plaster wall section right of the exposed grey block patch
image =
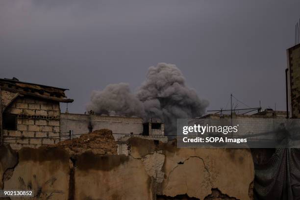
<path id="1" fill-rule="evenodd" d="M 254 167 L 249 150 L 174 148 L 166 150 L 165 156 L 164 172 L 169 176 L 164 181 L 162 194 L 175 196 L 178 194 L 175 188 L 181 188 L 180 194 L 204 199 L 211 188 L 218 188 L 228 196 L 250 199 L 248 190 Z M 188 186 L 181 181 L 183 178 L 188 178 Z M 170 180 L 177 183 L 176 187 L 170 187 Z"/>

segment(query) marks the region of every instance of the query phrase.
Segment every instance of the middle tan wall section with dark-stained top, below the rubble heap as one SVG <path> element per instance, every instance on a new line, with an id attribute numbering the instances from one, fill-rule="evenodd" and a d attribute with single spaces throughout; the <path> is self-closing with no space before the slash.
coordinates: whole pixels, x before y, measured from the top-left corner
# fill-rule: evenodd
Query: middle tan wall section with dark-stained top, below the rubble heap
<path id="1" fill-rule="evenodd" d="M 76 163 L 77 200 L 152 200 L 150 177 L 140 159 L 84 153 Z"/>

